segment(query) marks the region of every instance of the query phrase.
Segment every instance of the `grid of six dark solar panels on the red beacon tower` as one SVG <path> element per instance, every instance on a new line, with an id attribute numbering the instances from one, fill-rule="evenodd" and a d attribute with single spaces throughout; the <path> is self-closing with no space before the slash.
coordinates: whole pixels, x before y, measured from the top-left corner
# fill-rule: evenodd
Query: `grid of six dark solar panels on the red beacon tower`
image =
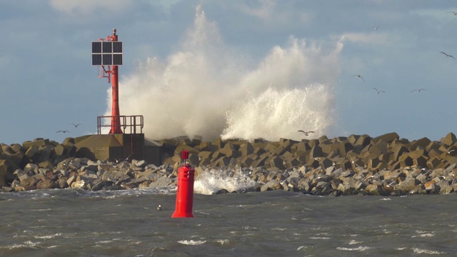
<path id="1" fill-rule="evenodd" d="M 122 42 L 92 42 L 92 65 L 122 65 Z"/>

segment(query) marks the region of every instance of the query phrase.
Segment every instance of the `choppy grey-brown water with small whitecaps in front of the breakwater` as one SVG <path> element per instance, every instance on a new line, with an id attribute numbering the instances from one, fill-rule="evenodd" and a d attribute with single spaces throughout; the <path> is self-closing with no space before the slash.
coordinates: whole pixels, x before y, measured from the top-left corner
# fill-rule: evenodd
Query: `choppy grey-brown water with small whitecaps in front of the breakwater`
<path id="1" fill-rule="evenodd" d="M 455 256 L 456 199 L 196 193 L 171 218 L 170 189 L 1 193 L 0 256 Z"/>

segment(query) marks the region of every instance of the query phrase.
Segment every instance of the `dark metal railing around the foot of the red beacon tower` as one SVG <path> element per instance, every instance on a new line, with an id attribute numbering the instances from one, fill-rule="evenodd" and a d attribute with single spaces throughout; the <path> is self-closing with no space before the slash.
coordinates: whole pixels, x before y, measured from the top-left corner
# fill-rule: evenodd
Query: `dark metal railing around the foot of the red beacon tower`
<path id="1" fill-rule="evenodd" d="M 111 124 L 112 118 L 119 119 L 119 125 Z M 105 123 L 106 119 L 109 119 L 109 121 Z M 139 129 L 139 133 L 143 133 L 143 124 L 144 118 L 142 115 L 97 116 L 97 133 L 100 135 L 102 128 L 112 128 L 113 126 L 115 127 L 115 129 L 120 127 L 124 131 L 124 133 L 136 134 L 137 129 Z"/>

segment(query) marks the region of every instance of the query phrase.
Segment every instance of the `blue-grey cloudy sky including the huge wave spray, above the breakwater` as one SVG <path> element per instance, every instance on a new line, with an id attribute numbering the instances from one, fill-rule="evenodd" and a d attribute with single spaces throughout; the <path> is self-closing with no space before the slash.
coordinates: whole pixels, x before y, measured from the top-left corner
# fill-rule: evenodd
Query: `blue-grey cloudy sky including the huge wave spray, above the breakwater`
<path id="1" fill-rule="evenodd" d="M 0 0 L 0 142 L 96 133 L 111 84 L 91 42 L 114 28 L 120 112 L 144 115 L 147 138 L 438 141 L 457 127 L 453 11 L 451 0 Z"/>

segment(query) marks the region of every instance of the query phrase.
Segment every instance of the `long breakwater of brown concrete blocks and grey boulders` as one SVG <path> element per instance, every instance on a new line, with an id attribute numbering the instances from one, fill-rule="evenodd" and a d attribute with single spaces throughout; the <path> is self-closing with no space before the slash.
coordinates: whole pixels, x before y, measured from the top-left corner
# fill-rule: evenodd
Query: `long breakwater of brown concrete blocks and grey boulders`
<path id="1" fill-rule="evenodd" d="M 160 141 L 163 164 L 89 160 L 74 156 L 71 138 L 1 144 L 2 191 L 41 188 L 120 190 L 176 186 L 181 151 L 189 151 L 196 181 L 203 175 L 242 180 L 238 191 L 286 190 L 323 196 L 452 193 L 457 189 L 457 138 L 408 141 L 397 133 L 255 141 L 203 141 L 186 136 Z M 246 183 L 248 181 L 249 183 Z M 233 191 L 220 188 L 214 193 Z"/>

